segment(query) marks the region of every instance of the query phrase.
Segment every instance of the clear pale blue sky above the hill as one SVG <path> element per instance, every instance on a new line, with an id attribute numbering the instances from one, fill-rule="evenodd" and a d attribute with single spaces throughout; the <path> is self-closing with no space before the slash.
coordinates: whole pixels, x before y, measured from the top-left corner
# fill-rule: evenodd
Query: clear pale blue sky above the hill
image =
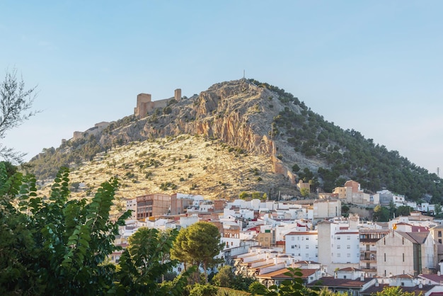
<path id="1" fill-rule="evenodd" d="M 2 144 L 27 153 L 153 101 L 246 78 L 443 169 L 443 1 L 0 0 L 0 79 L 42 112 Z M 442 172 L 443 174 L 443 172 Z"/>

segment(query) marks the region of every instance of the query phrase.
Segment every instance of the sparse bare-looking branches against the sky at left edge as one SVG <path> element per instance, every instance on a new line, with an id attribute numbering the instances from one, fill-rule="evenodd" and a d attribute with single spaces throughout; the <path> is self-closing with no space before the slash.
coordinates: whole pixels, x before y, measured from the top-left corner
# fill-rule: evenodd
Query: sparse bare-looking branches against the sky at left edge
<path id="1" fill-rule="evenodd" d="M 0 140 L 4 139 L 8 130 L 40 112 L 28 112 L 35 99 L 35 87 L 26 90 L 23 79 L 18 81 L 16 74 L 15 69 L 6 73 L 4 81 L 0 84 Z M 0 143 L 0 156 L 7 161 L 21 163 L 25 154 Z"/>

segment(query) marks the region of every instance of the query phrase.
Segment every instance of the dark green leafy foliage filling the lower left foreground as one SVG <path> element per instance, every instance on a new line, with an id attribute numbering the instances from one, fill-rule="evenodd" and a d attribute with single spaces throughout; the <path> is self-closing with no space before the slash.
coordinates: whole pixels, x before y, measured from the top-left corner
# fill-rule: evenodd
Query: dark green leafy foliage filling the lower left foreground
<path id="1" fill-rule="evenodd" d="M 0 181 L 1 295 L 183 294 L 188 273 L 158 284 L 177 263 L 168 258 L 176 231 L 139 229 L 117 271 L 108 262 L 120 249 L 113 244 L 118 227 L 130 217 L 110 218 L 116 178 L 102 183 L 89 203 L 69 200 L 67 168 L 57 173 L 47 200 L 38 196 L 32 175 L 10 175 L 2 162 Z"/>

